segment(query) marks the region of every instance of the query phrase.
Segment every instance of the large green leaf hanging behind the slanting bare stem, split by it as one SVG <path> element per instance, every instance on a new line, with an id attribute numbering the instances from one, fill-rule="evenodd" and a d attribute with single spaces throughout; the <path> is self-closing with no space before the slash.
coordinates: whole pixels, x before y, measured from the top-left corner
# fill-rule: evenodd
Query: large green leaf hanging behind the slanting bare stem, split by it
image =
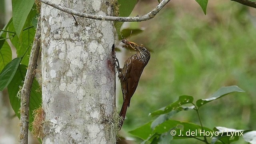
<path id="1" fill-rule="evenodd" d="M 10 98 L 10 104 L 18 118 L 20 118 L 20 98 L 18 98 L 18 91 L 23 85 L 24 77 L 26 75 L 26 66 L 20 65 L 16 71 L 12 81 L 8 85 L 8 94 Z M 42 92 L 40 91 L 40 86 L 36 79 L 32 83 L 32 88 L 30 92 L 30 102 L 29 102 L 29 130 L 31 131 L 31 122 L 33 121 L 32 113 L 36 108 L 39 108 L 42 103 Z"/>

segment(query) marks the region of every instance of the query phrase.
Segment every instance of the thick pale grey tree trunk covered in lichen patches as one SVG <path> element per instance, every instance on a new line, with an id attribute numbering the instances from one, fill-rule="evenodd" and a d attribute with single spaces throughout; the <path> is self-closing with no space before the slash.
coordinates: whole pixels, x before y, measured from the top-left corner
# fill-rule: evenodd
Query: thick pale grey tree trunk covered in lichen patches
<path id="1" fill-rule="evenodd" d="M 75 10 L 112 15 L 107 0 L 52 0 Z M 42 4 L 43 144 L 109 144 L 115 106 L 113 22 L 74 18 Z"/>

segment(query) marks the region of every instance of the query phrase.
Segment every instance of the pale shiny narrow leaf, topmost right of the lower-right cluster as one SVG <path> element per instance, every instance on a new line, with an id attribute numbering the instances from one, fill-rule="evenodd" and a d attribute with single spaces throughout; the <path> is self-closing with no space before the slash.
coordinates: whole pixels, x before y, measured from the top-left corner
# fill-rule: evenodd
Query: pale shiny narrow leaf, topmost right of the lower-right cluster
<path id="1" fill-rule="evenodd" d="M 198 106 L 198 108 L 200 108 L 204 104 L 207 104 L 208 102 L 211 102 L 218 98 L 222 98 L 223 96 L 226 96 L 227 94 L 230 94 L 232 92 L 244 92 L 244 90 L 242 90 L 238 86 L 222 87 L 217 92 L 215 92 L 210 98 L 197 100 L 196 106 Z"/>

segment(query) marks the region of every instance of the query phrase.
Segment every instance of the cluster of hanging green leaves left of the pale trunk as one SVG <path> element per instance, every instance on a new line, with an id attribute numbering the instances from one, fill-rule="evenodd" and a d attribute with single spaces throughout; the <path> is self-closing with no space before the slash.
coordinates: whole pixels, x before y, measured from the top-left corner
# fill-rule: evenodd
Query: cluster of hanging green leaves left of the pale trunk
<path id="1" fill-rule="evenodd" d="M 0 91 L 8 88 L 10 104 L 20 118 L 19 91 L 23 85 L 28 60 L 37 25 L 34 0 L 12 0 L 13 15 L 8 24 L 0 30 Z M 10 40 L 10 43 L 6 41 Z M 12 60 L 12 49 L 17 58 Z M 33 111 L 42 103 L 42 92 L 36 78 L 32 83 L 29 107 L 29 129 L 32 130 Z"/>

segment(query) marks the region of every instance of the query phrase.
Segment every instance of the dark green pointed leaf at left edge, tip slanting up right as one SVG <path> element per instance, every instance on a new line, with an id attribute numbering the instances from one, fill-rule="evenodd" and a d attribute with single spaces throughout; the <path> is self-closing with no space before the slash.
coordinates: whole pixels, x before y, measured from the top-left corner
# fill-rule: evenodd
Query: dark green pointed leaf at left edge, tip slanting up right
<path id="1" fill-rule="evenodd" d="M 20 64 L 21 58 L 14 58 L 0 73 L 0 91 L 4 90 L 11 82 Z"/>

